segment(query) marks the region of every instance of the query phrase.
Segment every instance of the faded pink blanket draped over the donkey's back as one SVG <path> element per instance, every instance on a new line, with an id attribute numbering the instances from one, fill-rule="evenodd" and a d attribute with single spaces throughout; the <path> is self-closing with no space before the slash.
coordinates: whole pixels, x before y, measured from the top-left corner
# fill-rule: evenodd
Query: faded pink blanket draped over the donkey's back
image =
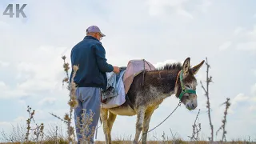
<path id="1" fill-rule="evenodd" d="M 155 70 L 155 67 L 150 62 L 147 62 L 145 59 L 134 59 L 128 62 L 126 73 L 123 76 L 126 94 L 130 89 L 130 85 L 133 82 L 134 77 L 140 74 L 142 70 Z"/>

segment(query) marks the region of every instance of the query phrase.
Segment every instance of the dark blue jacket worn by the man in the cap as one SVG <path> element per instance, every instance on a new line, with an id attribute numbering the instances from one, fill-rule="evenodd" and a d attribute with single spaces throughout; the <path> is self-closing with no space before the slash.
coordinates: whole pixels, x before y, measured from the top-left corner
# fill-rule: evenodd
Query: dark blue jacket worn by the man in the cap
<path id="1" fill-rule="evenodd" d="M 86 36 L 71 50 L 71 66 L 78 66 L 74 82 L 78 87 L 100 87 L 106 90 L 106 72 L 114 67 L 106 62 L 106 51 L 97 38 Z M 74 70 L 70 74 L 70 80 Z"/>

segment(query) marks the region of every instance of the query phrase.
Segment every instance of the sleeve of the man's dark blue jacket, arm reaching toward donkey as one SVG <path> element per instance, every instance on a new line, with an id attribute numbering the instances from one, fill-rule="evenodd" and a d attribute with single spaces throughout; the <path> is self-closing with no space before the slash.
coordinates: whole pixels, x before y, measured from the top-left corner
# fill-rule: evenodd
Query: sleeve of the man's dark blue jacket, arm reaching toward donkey
<path id="1" fill-rule="evenodd" d="M 114 70 L 114 67 L 106 62 L 106 51 L 104 47 L 97 43 L 94 45 L 95 48 L 95 54 L 96 54 L 96 61 L 98 64 L 99 70 L 102 72 L 111 72 Z"/>

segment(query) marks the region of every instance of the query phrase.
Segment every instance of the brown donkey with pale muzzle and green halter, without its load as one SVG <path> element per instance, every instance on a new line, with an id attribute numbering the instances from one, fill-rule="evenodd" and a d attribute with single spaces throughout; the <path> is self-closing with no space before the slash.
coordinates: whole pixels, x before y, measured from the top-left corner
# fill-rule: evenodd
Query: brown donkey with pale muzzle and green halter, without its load
<path id="1" fill-rule="evenodd" d="M 134 81 L 127 93 L 129 101 L 118 107 L 101 108 L 100 117 L 103 122 L 106 143 L 111 143 L 111 130 L 117 115 L 137 115 L 136 134 L 133 143 L 138 143 L 139 135 L 143 130 L 142 144 L 146 144 L 146 133 L 149 130 L 150 118 L 154 110 L 158 108 L 165 98 L 170 97 L 172 94 L 180 98 L 180 102 L 188 110 L 194 110 L 198 106 L 195 92 L 197 80 L 194 74 L 197 74 L 203 63 L 204 61 L 191 68 L 190 58 L 186 58 L 183 65 L 177 62 L 166 64 L 166 66 L 162 66 L 157 70 L 145 71 L 143 85 L 143 73 L 134 77 Z"/>

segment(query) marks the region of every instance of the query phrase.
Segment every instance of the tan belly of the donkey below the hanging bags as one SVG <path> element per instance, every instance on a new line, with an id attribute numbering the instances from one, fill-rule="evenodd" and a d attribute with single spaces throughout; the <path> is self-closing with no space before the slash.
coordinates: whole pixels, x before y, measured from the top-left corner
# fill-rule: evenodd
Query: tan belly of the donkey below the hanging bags
<path id="1" fill-rule="evenodd" d="M 108 110 L 110 110 L 111 113 L 118 115 L 133 116 L 136 114 L 136 112 L 128 105 L 122 105 Z"/>

